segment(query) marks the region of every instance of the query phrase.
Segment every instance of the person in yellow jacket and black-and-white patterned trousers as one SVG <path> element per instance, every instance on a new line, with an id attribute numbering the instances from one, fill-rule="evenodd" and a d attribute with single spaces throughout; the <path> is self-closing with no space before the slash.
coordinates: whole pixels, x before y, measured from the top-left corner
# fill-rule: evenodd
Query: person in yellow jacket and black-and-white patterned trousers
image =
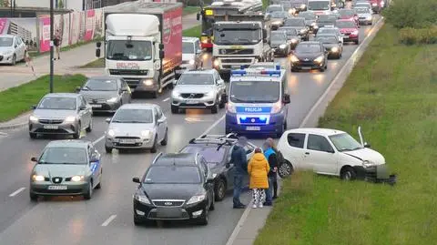
<path id="1" fill-rule="evenodd" d="M 269 162 L 260 148 L 255 149 L 255 154 L 250 158 L 248 165 L 249 189 L 252 189 L 253 209 L 262 208 L 266 197 L 265 189 L 269 189 Z"/>

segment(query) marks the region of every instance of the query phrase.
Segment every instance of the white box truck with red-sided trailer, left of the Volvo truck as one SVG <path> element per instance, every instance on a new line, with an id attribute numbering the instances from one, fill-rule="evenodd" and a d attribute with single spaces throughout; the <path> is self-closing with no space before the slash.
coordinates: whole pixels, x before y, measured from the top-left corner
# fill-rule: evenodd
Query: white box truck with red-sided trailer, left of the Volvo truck
<path id="1" fill-rule="evenodd" d="M 182 63 L 182 4 L 127 2 L 105 8 L 104 15 L 107 75 L 158 97 Z"/>

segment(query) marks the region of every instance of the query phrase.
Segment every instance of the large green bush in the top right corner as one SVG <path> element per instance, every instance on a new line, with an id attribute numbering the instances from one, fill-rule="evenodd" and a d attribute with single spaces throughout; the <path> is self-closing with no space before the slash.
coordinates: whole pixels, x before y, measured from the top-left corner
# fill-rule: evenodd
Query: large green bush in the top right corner
<path id="1" fill-rule="evenodd" d="M 387 22 L 401 29 L 426 28 L 437 25 L 437 0 L 393 0 L 382 13 Z"/>

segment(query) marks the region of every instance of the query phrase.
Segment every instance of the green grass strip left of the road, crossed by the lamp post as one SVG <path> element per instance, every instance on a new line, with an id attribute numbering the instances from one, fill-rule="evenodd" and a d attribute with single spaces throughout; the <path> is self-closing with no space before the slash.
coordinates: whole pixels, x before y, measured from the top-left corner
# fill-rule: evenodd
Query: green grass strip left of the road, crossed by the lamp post
<path id="1" fill-rule="evenodd" d="M 86 77 L 80 74 L 55 76 L 54 92 L 75 92 Z M 49 76 L 38 77 L 29 83 L 0 92 L 0 122 L 5 122 L 30 110 L 49 91 Z"/>

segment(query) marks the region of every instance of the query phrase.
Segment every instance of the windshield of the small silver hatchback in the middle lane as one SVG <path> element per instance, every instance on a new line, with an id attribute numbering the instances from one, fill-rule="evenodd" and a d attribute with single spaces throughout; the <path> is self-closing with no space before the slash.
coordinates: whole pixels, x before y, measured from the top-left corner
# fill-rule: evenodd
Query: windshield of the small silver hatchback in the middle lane
<path id="1" fill-rule="evenodd" d="M 112 118 L 113 123 L 153 123 L 152 109 L 118 109 Z"/>

